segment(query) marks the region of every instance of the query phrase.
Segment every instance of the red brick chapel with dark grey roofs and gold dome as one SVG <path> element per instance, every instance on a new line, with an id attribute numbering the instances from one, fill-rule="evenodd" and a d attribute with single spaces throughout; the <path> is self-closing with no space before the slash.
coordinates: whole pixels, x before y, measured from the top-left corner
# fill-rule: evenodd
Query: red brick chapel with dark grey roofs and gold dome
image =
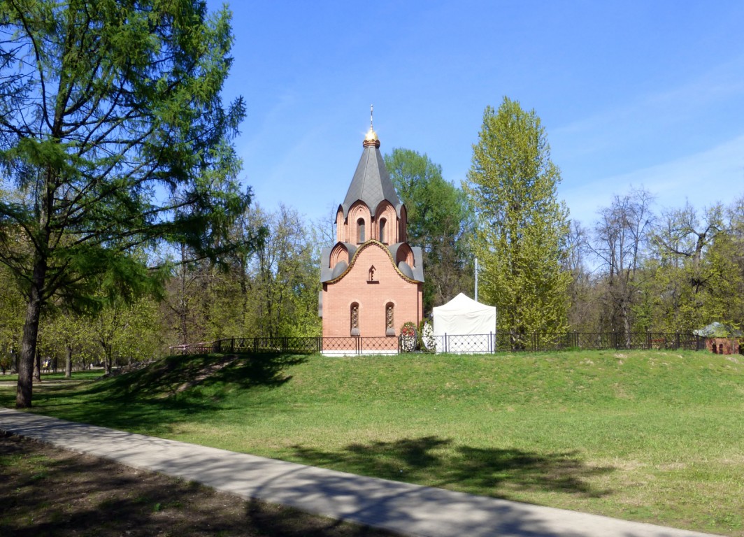
<path id="1" fill-rule="evenodd" d="M 391 338 L 423 317 L 421 248 L 406 242 L 405 205 L 385 169 L 372 128 L 344 202 L 336 245 L 321 256 L 323 336 Z"/>

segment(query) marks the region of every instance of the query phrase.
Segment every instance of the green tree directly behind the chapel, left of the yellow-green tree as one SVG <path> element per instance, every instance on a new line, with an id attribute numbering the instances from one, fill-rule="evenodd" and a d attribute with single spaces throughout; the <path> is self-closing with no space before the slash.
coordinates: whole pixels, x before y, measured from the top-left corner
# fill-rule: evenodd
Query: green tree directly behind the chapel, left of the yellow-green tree
<path id="1" fill-rule="evenodd" d="M 396 148 L 385 167 L 408 211 L 408 242 L 423 250 L 425 315 L 460 292 L 472 292 L 472 221 L 466 198 L 424 154 Z"/>

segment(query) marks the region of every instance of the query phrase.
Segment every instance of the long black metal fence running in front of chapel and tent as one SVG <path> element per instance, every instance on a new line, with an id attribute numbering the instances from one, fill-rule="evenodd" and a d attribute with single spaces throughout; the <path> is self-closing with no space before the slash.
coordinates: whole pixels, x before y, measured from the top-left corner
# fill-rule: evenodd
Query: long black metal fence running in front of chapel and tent
<path id="1" fill-rule="evenodd" d="M 445 334 L 419 337 L 405 336 L 340 338 L 225 338 L 211 343 L 170 347 L 170 354 L 204 353 L 291 353 L 327 356 L 359 356 L 364 354 L 401 354 L 430 352 L 453 354 L 484 354 L 519 351 L 551 350 L 703 350 L 705 338 L 699 335 L 661 332 L 567 332 L 564 334 Z"/>

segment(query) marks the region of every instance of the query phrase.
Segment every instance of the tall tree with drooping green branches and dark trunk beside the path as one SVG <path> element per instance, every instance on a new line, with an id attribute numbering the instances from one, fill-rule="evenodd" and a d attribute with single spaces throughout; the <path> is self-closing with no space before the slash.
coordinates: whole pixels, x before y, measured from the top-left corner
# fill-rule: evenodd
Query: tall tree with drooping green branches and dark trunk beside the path
<path id="1" fill-rule="evenodd" d="M 18 405 L 42 306 L 96 304 L 161 282 L 132 253 L 182 243 L 217 257 L 248 203 L 222 106 L 226 10 L 198 0 L 0 1 L 0 263 L 28 303 Z M 149 280 L 150 283 L 143 283 Z"/>

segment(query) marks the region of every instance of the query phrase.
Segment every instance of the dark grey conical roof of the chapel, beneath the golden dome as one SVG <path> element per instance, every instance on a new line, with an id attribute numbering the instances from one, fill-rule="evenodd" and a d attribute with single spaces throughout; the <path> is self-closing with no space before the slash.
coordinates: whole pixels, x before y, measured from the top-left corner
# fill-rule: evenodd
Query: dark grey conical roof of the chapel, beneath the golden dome
<path id="1" fill-rule="evenodd" d="M 377 147 L 379 147 L 379 142 L 378 144 L 365 144 L 362 158 L 359 159 L 359 165 L 356 167 L 349 190 L 341 204 L 344 216 L 348 215 L 349 208 L 357 201 L 364 202 L 374 214 L 377 205 L 383 199 L 388 200 L 400 216 L 400 207 L 403 204 L 395 192 L 393 181 L 390 180 L 385 161 Z"/>

